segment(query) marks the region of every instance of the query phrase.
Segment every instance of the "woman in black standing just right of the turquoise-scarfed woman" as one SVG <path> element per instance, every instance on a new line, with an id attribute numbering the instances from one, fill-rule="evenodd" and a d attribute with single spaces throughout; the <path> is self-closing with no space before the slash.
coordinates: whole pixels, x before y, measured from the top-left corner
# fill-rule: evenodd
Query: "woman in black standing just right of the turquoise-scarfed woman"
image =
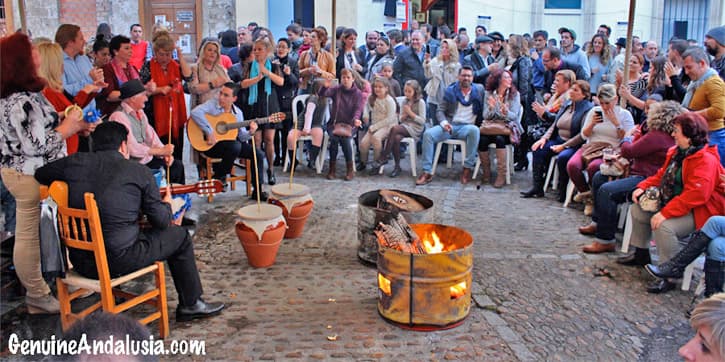
<path id="1" fill-rule="evenodd" d="M 277 41 L 277 50 L 272 63 L 279 64 L 282 68 L 282 76 L 284 77 L 284 85 L 277 88 L 277 98 L 279 100 L 279 110 L 287 116 L 282 123 L 282 128 L 277 129 L 274 135 L 274 165 L 280 166 L 284 162 L 287 149 L 287 134 L 292 128 L 292 100 L 297 95 L 297 87 L 299 87 L 300 68 L 297 60 L 289 57 L 291 44 L 287 38 L 279 38 Z"/>

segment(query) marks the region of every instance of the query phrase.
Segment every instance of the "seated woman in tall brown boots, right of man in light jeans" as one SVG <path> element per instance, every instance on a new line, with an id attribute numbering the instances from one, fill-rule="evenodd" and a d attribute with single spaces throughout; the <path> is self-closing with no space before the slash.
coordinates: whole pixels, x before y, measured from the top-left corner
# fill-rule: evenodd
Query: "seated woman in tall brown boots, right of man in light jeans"
<path id="1" fill-rule="evenodd" d="M 478 158 L 481 160 L 483 176 L 481 184 L 491 181 L 491 158 L 488 145 L 496 145 L 496 181 L 493 187 L 500 188 L 506 183 L 506 145 L 517 144 L 521 134 L 518 124 L 521 112 L 521 99 L 513 76 L 508 70 L 495 70 L 486 80 L 486 107 L 479 130 Z"/>

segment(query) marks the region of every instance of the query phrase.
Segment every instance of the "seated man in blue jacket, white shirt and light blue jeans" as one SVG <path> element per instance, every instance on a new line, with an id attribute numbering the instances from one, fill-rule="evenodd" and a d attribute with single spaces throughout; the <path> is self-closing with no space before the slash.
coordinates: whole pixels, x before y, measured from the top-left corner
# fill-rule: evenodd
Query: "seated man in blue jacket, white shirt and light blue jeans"
<path id="1" fill-rule="evenodd" d="M 446 89 L 443 102 L 438 107 L 440 124 L 423 133 L 423 173 L 415 181 L 416 185 L 426 185 L 433 181 L 431 169 L 436 144 L 451 138 L 466 141 L 461 183 L 467 184 L 471 181 L 473 167 L 476 165 L 476 148 L 481 138 L 475 123 L 483 114 L 483 93 L 483 86 L 473 83 L 473 68 L 462 66 L 458 71 L 458 81 Z"/>

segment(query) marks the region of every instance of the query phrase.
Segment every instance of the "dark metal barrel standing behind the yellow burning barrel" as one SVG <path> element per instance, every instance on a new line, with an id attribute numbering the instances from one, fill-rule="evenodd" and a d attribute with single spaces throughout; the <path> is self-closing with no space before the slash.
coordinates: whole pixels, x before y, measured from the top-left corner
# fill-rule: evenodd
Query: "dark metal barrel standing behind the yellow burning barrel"
<path id="1" fill-rule="evenodd" d="M 357 240 L 360 243 L 357 248 L 357 256 L 360 260 L 371 264 L 377 263 L 378 260 L 378 238 L 375 236 L 375 227 L 389 214 L 388 210 L 378 208 L 381 191 L 403 194 L 423 207 L 421 211 L 400 212 L 409 224 L 433 221 L 433 200 L 425 196 L 401 190 L 373 190 L 360 195 L 357 206 Z"/>

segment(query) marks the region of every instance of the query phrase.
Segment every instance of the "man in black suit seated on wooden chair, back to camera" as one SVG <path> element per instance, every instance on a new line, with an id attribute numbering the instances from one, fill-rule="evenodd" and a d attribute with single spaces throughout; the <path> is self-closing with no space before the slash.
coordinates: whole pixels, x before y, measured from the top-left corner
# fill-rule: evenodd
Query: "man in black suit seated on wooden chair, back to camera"
<path id="1" fill-rule="evenodd" d="M 111 278 L 131 273 L 156 261 L 166 261 L 178 293 L 176 321 L 217 315 L 223 303 L 207 303 L 194 257 L 191 235 L 171 224 L 171 195 L 161 199 L 151 171 L 129 160 L 128 140 L 133 136 L 116 122 L 100 124 L 92 136 L 93 152 L 78 152 L 35 171 L 42 185 L 68 184 L 68 204 L 85 209 L 84 194 L 95 194 L 102 220 L 103 241 Z M 139 214 L 150 228 L 141 228 Z M 71 249 L 73 269 L 87 278 L 98 278 L 93 254 Z"/>

